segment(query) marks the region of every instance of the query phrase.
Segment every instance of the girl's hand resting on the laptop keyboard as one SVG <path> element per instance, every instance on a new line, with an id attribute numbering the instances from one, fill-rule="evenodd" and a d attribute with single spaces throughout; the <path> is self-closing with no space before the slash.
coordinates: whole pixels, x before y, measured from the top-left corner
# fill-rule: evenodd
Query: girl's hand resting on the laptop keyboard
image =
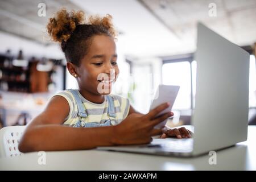
<path id="1" fill-rule="evenodd" d="M 177 138 L 192 138 L 192 131 L 185 129 L 185 127 L 181 127 L 179 129 L 168 129 L 160 135 L 160 138 L 167 137 L 177 137 Z"/>

